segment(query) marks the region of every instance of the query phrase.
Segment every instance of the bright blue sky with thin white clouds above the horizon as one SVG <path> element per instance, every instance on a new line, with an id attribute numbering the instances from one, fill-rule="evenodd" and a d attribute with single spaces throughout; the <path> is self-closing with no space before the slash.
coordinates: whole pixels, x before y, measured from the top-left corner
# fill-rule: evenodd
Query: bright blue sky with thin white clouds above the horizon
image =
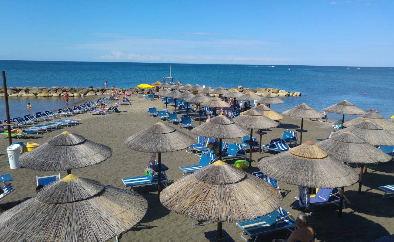
<path id="1" fill-rule="evenodd" d="M 0 1 L 0 59 L 394 66 L 394 2 Z"/>

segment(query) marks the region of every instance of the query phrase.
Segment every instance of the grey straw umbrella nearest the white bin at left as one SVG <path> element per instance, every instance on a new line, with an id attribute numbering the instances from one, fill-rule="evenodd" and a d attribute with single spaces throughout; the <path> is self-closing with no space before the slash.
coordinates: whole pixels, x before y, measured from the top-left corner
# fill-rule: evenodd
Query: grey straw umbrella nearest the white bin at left
<path id="1" fill-rule="evenodd" d="M 21 155 L 19 164 L 40 171 L 67 170 L 67 174 L 70 174 L 71 169 L 99 164 L 111 155 L 110 147 L 87 140 L 82 135 L 64 131 Z"/>

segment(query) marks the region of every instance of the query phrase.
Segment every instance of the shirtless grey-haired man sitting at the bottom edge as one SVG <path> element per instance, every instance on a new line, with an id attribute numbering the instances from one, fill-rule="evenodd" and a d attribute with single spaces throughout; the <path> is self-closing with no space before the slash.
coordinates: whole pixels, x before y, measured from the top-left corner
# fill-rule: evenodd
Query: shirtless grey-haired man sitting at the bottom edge
<path id="1" fill-rule="evenodd" d="M 304 212 L 297 216 L 296 225 L 298 229 L 287 235 L 286 240 L 274 239 L 272 242 L 314 242 L 315 231 L 308 225 L 309 217 Z"/>

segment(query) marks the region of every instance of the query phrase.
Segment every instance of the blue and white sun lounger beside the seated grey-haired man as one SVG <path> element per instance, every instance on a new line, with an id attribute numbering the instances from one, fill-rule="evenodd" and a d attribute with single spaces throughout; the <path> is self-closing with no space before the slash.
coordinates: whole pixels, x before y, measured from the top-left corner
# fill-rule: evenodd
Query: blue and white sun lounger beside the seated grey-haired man
<path id="1" fill-rule="evenodd" d="M 294 218 L 292 218 L 291 214 L 281 207 L 266 216 L 238 222 L 237 225 L 242 229 L 241 238 L 246 242 L 249 240 L 244 237 L 245 235 L 249 235 L 251 238 L 256 236 L 254 240 L 256 241 L 259 235 L 281 229 L 288 229 L 291 232 L 292 230 L 290 228 L 296 229 L 296 222 L 294 221 Z"/>

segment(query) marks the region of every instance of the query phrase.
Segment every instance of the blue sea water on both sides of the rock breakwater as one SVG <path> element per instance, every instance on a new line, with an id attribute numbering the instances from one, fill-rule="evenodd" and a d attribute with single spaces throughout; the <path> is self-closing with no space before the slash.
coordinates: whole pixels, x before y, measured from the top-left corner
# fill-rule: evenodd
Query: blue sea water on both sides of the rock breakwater
<path id="1" fill-rule="evenodd" d="M 120 62 L 6 61 L 8 87 L 136 87 L 141 83 L 162 81 L 170 75 L 174 82 L 236 88 L 272 87 L 301 92 L 300 97 L 283 98 L 285 103 L 271 105 L 278 113 L 307 103 L 320 111 L 342 100 L 364 109 L 374 109 L 390 118 L 394 115 L 394 68 L 328 67 L 276 65 L 205 65 Z M 290 70 L 288 69 L 290 68 Z M 76 100 L 75 100 L 76 101 Z M 62 107 L 54 98 L 9 98 L 11 117 L 27 113 L 27 102 L 33 112 Z M 0 119 L 5 118 L 4 98 L 0 99 Z M 341 115 L 329 114 L 330 119 Z M 354 117 L 347 116 L 346 119 Z"/>

